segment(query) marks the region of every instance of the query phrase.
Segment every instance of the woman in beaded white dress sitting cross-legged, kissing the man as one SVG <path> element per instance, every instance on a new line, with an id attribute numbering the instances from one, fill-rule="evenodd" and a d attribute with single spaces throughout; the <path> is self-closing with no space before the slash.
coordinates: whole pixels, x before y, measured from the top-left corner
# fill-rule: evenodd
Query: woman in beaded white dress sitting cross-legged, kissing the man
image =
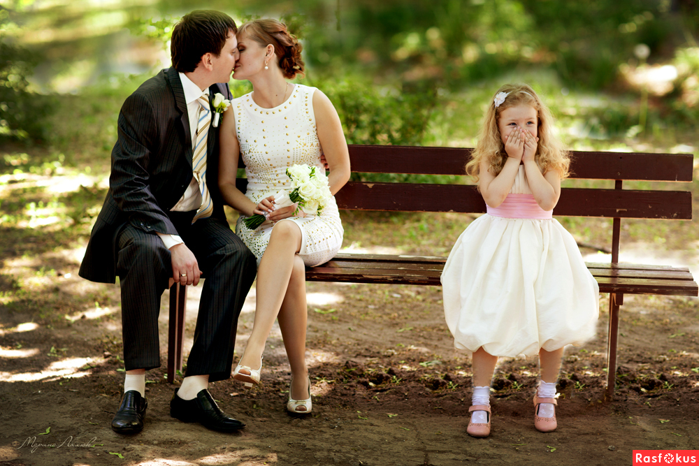
<path id="1" fill-rule="evenodd" d="M 294 164 L 330 168 L 331 193 L 349 180 L 349 152 L 340 118 L 315 87 L 291 84 L 303 74 L 301 44 L 276 20 L 254 20 L 238 29 L 240 56 L 233 78 L 249 80 L 252 92 L 234 99 L 220 131 L 219 186 L 226 203 L 242 212 L 236 233 L 257 257 L 257 307 L 254 326 L 233 378 L 259 384 L 262 354 L 275 318 L 291 366 L 287 409 L 309 413 L 310 379 L 305 364 L 307 308 L 305 266 L 329 261 L 343 242 L 343 226 L 331 198 L 322 214 L 294 214 L 296 206 L 275 208 L 274 196 L 289 190 L 286 170 Z M 245 194 L 236 188 L 238 156 L 247 175 Z M 251 230 L 243 220 L 265 214 Z"/>

